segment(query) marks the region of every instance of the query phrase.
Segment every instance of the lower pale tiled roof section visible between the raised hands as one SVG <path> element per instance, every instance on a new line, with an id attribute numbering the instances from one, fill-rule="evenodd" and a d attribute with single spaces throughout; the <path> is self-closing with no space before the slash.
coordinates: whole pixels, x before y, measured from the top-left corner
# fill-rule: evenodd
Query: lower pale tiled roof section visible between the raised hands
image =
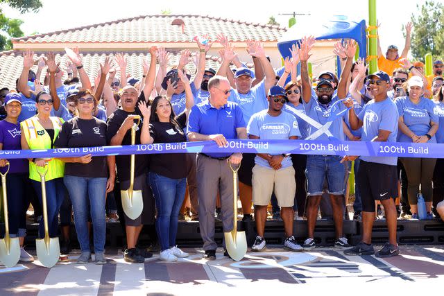
<path id="1" fill-rule="evenodd" d="M 35 53 L 34 60 L 37 61 L 40 58 L 40 55 L 42 53 Z M 82 54 L 83 65 L 85 67 L 85 71 L 87 72 L 89 79 L 91 82 L 94 82 L 94 78 L 97 75 L 97 71 L 99 71 L 99 63 L 103 62 L 105 60 L 106 55 L 114 55 L 114 53 L 85 53 Z M 133 76 L 135 78 L 142 78 L 142 67 L 144 64 L 144 60 L 148 58 L 150 60 L 150 56 L 146 55 L 146 53 L 140 53 L 140 52 L 126 52 L 124 55 L 127 58 L 128 66 L 126 69 L 126 73 L 130 74 L 130 76 Z M 169 66 L 177 65 L 180 59 L 180 53 L 172 53 Z M 61 62 L 60 66 L 64 68 L 65 64 L 69 61 L 69 58 L 63 53 L 56 54 L 56 62 Z M 248 67 L 252 67 L 253 64 L 247 64 Z M 219 69 L 219 62 L 217 61 L 217 57 L 207 55 L 207 62 L 205 69 L 213 68 L 213 69 Z M 117 67 L 117 65 L 115 65 Z M 158 67 L 158 66 L 157 66 Z M 23 69 L 23 58 L 22 53 L 16 52 L 16 51 L 5 51 L 3 53 L 0 53 L 0 87 L 9 87 L 10 89 L 15 89 L 15 80 L 19 78 L 20 73 L 22 73 Z M 196 72 L 196 67 L 194 66 L 194 63 L 190 62 L 187 65 L 187 70 L 189 70 L 189 73 L 193 74 Z M 37 66 L 33 67 L 33 71 L 37 71 Z M 46 71 L 46 69 L 44 69 Z M 119 77 L 119 71 L 117 71 L 117 77 Z M 44 76 L 42 75 L 42 80 Z M 65 72 L 65 76 L 63 79 L 67 78 L 67 74 Z"/>

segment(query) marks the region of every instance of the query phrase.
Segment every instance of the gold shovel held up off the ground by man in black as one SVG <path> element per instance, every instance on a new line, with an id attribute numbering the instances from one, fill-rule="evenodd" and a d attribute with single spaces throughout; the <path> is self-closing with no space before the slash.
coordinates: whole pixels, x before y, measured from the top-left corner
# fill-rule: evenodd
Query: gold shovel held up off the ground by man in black
<path id="1" fill-rule="evenodd" d="M 129 115 L 137 119 L 137 124 L 131 128 L 131 145 L 136 143 L 136 127 L 140 123 L 139 115 Z M 142 190 L 133 190 L 134 186 L 134 162 L 135 155 L 131 155 L 130 158 L 130 187 L 127 190 L 121 190 L 122 207 L 128 218 L 135 220 L 142 214 L 144 209 L 144 199 L 142 198 Z"/>

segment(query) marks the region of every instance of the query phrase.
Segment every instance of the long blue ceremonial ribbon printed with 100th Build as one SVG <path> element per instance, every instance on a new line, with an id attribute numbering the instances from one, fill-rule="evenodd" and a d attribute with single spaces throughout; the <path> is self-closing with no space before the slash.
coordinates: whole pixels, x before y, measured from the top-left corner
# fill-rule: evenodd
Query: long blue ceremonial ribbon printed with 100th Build
<path id="1" fill-rule="evenodd" d="M 214 141 L 154 143 L 149 145 L 58 148 L 47 150 L 0 150 L 2 159 L 53 158 L 160 153 L 281 153 L 305 155 L 357 155 L 376 157 L 444 158 L 444 144 L 364 141 L 228 140 L 218 147 Z"/>

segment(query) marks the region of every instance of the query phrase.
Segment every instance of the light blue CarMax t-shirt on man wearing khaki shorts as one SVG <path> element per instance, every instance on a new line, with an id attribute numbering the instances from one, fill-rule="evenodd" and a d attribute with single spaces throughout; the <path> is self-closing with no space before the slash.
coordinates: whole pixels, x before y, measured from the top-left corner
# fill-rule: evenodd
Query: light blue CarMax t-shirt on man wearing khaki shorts
<path id="1" fill-rule="evenodd" d="M 291 136 L 300 137 L 298 122 L 288 112 L 281 112 L 279 116 L 271 116 L 267 110 L 262 110 L 251 116 L 247 126 L 247 134 L 264 140 L 284 140 Z M 256 156 L 255 163 L 259 166 L 271 168 L 270 164 L 262 157 Z M 282 168 L 292 166 L 291 157 L 282 159 Z"/>

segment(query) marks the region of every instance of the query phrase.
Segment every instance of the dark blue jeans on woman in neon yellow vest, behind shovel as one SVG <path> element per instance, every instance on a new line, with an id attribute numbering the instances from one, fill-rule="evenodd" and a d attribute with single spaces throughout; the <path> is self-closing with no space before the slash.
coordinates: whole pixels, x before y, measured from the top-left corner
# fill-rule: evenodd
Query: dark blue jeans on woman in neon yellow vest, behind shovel
<path id="1" fill-rule="evenodd" d="M 42 204 L 42 185 L 40 182 L 31 180 L 33 183 L 35 193 L 39 198 L 40 204 Z M 58 237 L 58 212 L 65 198 L 65 185 L 63 184 L 63 178 L 57 178 L 45 182 L 46 184 L 46 211 L 48 213 L 48 229 L 50 237 Z M 39 225 L 39 238 L 44 238 L 44 221 L 40 220 Z"/>

